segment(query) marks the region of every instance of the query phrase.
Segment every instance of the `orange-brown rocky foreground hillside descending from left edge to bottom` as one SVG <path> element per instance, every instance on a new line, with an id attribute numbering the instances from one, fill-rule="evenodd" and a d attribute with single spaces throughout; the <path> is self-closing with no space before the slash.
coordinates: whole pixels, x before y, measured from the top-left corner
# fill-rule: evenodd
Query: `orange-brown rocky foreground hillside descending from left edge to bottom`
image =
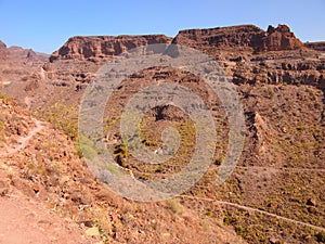
<path id="1" fill-rule="evenodd" d="M 141 204 L 113 194 L 67 136 L 11 99 L 0 99 L 0 106 L 3 243 L 245 243 L 218 227 L 221 219 L 204 218 L 178 200 Z M 24 213 L 17 202 L 26 203 Z"/>

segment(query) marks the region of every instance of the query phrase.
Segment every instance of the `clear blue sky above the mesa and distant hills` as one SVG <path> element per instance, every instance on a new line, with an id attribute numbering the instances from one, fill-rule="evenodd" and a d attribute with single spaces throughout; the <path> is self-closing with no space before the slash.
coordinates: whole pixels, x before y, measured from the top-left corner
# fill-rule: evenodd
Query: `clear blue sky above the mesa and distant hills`
<path id="1" fill-rule="evenodd" d="M 325 41 L 325 0 L 0 0 L 0 40 L 51 53 L 76 35 L 287 24 L 302 41 Z"/>

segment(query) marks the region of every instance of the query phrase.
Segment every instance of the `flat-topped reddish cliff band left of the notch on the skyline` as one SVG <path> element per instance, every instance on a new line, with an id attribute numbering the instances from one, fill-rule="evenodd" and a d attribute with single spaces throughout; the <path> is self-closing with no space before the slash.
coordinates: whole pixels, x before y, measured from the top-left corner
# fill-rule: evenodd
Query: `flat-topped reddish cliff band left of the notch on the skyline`
<path id="1" fill-rule="evenodd" d="M 51 55 L 50 61 L 72 59 L 100 60 L 118 55 L 140 46 L 170 43 L 171 39 L 165 35 L 72 37 L 61 49 Z"/>

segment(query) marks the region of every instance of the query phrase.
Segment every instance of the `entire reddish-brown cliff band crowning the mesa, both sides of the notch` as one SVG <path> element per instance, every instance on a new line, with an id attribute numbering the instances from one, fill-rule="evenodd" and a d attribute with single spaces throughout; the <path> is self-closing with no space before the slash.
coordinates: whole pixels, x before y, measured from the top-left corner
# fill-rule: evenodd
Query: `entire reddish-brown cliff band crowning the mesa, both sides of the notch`
<path id="1" fill-rule="evenodd" d="M 177 43 L 195 49 L 242 49 L 253 52 L 302 49 L 303 43 L 286 25 L 268 30 L 255 25 L 181 30 L 173 39 L 165 35 L 72 37 L 55 51 L 55 60 L 105 60 L 135 47 L 153 43 Z"/>

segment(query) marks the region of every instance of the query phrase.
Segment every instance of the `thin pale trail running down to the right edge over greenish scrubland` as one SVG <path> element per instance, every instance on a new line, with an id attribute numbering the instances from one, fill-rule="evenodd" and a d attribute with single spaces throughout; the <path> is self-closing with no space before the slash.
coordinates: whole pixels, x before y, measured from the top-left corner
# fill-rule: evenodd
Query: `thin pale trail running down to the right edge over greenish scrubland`
<path id="1" fill-rule="evenodd" d="M 323 228 L 323 227 L 317 227 L 317 226 L 314 226 L 314 224 L 311 224 L 311 223 L 307 223 L 307 222 L 302 222 L 302 221 L 299 221 L 299 220 L 290 219 L 290 218 L 283 217 L 283 216 L 280 216 L 280 215 L 275 215 L 275 214 L 272 214 L 272 213 L 269 213 L 269 211 L 265 211 L 265 210 L 261 210 L 261 209 L 258 209 L 258 208 L 244 206 L 244 205 L 240 205 L 240 204 L 230 203 L 230 202 L 220 201 L 220 200 L 212 200 L 212 198 L 209 198 L 209 197 L 197 197 L 197 196 L 188 196 L 188 195 L 180 195 L 179 197 L 190 198 L 190 200 L 202 200 L 202 201 L 207 201 L 207 202 L 214 202 L 214 203 L 218 203 L 218 204 L 221 204 L 221 205 L 232 206 L 232 207 L 240 208 L 240 209 L 251 211 L 251 213 L 252 211 L 253 213 L 260 213 L 262 215 L 266 215 L 266 216 L 270 216 L 270 217 L 273 217 L 273 218 L 276 218 L 276 219 L 292 222 L 292 223 L 296 223 L 298 226 L 309 227 L 309 228 L 312 228 L 312 229 L 315 229 L 315 230 L 318 230 L 318 231 L 325 231 L 325 228 Z"/>

